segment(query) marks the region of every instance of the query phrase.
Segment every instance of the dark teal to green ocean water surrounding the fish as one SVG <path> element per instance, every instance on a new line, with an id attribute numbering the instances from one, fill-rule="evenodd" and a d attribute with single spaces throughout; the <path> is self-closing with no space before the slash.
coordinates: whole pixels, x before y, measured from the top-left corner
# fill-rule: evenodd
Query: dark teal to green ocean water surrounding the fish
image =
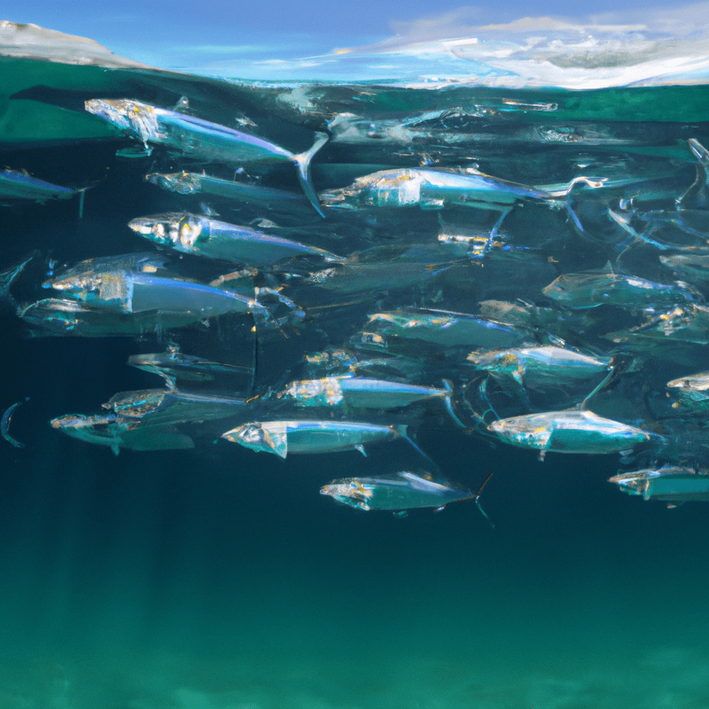
<path id="1" fill-rule="evenodd" d="M 116 456 L 64 436 L 50 419 L 99 413 L 118 391 L 160 386 L 154 375 L 125 366 L 132 354 L 177 344 L 250 366 L 253 321 L 223 316 L 135 338 L 38 336 L 42 330 L 16 310 L 48 297 L 40 284 L 65 264 L 151 250 L 125 227 L 148 214 L 209 208 L 233 223 L 269 218 L 287 235 L 340 255 L 386 247 L 391 271 L 406 262 L 404 247 L 438 247 L 440 233 L 488 234 L 498 217 L 413 206 L 325 209 L 322 220 L 304 199 L 291 212 L 162 191 L 145 174 L 184 163 L 160 148 L 150 157 L 116 157 L 138 143 L 86 113 L 91 98 L 172 108 L 187 96 L 194 115 L 224 125 L 248 119 L 293 152 L 310 147 L 313 130 L 329 130 L 312 165 L 321 195 L 385 167 L 472 167 L 535 185 L 567 184 L 579 174 L 632 178 L 630 192 L 618 186 L 574 198 L 582 231 L 563 206 L 515 209 L 491 250 L 438 257 L 454 267 L 432 281 L 387 276 L 372 285 L 362 270 L 355 279 L 363 285 L 342 292 L 287 285 L 282 292 L 306 318 L 296 328 L 257 328 L 256 381 L 245 395 L 282 386 L 300 371 L 301 355 L 347 344 L 374 312 L 428 306 L 474 313 L 491 298 L 555 307 L 542 287 L 609 261 L 620 272 L 670 283 L 654 247 L 629 241 L 608 210 L 635 199 L 638 214 L 674 211 L 700 177 L 687 141 L 709 146 L 707 88 L 696 74 L 701 57 L 687 62 L 681 80 L 673 60 L 652 76 L 641 72 L 636 83 L 645 86 L 605 69 L 605 79 L 597 72 L 593 85 L 575 88 L 553 77 L 531 85 L 520 79 L 524 72 L 505 84 L 500 77 L 513 76 L 511 65 L 491 67 L 494 80 L 481 74 L 468 84 L 418 74 L 415 81 L 357 82 L 352 74 L 364 66 L 357 61 L 340 65 L 346 80 L 290 82 L 274 72 L 272 82 L 237 82 L 105 56 L 71 63 L 71 43 L 67 50 L 54 36 L 40 37 L 39 48 L 0 52 L 9 77 L 0 98 L 0 155 L 12 169 L 89 189 L 81 217 L 78 198 L 8 199 L 2 207 L 0 270 L 33 259 L 2 311 L 0 408 L 28 401 L 9 428 L 25 447 L 0 441 L 0 709 L 709 707 L 704 503 L 668 509 L 607 482 L 619 469 L 706 465 L 705 416 L 674 415 L 664 383 L 707 369 L 707 345 L 667 350 L 659 342 L 616 352 L 618 343 L 601 335 L 646 315 L 613 306 L 594 309 L 593 325 L 574 320 L 559 335 L 574 347 L 638 359 L 620 384 L 598 394 L 594 411 L 668 440 L 679 431 L 672 445 L 640 449 L 625 463 L 615 453 L 554 452 L 541 462 L 536 451 L 484 435 L 465 405 L 480 403 L 468 396 L 475 386 L 464 389 L 475 377 L 469 365 L 427 351 L 418 379 L 436 385 L 442 370 L 449 373 L 469 430 L 432 405 L 399 411 L 396 423 L 411 423 L 447 479 L 475 491 L 494 472 L 481 496 L 493 527 L 469 501 L 402 518 L 318 494 L 334 477 L 396 469 L 411 456 L 402 442 L 372 447 L 366 458 L 349 451 L 283 461 L 218 440 L 211 429 L 200 435 L 199 424 L 189 428 L 196 440 L 190 450 Z M 459 61 L 460 52 L 445 57 Z M 343 120 L 349 132 L 338 128 Z M 231 167 L 210 169 L 235 178 Z M 253 184 L 300 195 L 289 165 Z M 685 203 L 703 215 L 699 187 Z M 174 253 L 172 262 L 205 282 L 229 270 Z M 703 302 L 706 286 L 690 285 Z M 525 402 L 493 383 L 488 394 L 487 403 L 506 415 L 580 401 L 564 391 L 532 393 Z"/>

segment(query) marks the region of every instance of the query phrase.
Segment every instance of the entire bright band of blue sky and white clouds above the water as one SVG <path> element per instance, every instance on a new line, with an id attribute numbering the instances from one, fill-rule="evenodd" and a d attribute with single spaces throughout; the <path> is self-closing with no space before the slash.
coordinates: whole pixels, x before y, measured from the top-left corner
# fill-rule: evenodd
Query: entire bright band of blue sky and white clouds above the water
<path id="1" fill-rule="evenodd" d="M 709 0 L 3 0 L 2 19 L 82 35 L 162 69 L 218 77 L 498 81 L 504 74 L 525 85 L 593 88 L 709 74 Z M 607 68 L 579 69 L 594 52 Z M 541 55 L 559 61 L 541 66 Z M 635 65 L 642 66 L 627 69 Z"/>

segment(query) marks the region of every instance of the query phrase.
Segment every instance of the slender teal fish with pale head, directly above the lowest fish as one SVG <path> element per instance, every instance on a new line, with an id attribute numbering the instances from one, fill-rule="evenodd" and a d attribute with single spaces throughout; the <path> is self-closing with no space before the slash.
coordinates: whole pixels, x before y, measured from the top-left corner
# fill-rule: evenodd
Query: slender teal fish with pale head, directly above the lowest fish
<path id="1" fill-rule="evenodd" d="M 387 426 L 356 421 L 276 420 L 245 423 L 222 438 L 255 451 L 285 458 L 289 453 L 364 452 L 364 445 L 406 438 L 406 425 Z M 408 440 L 408 439 L 407 439 Z"/>

